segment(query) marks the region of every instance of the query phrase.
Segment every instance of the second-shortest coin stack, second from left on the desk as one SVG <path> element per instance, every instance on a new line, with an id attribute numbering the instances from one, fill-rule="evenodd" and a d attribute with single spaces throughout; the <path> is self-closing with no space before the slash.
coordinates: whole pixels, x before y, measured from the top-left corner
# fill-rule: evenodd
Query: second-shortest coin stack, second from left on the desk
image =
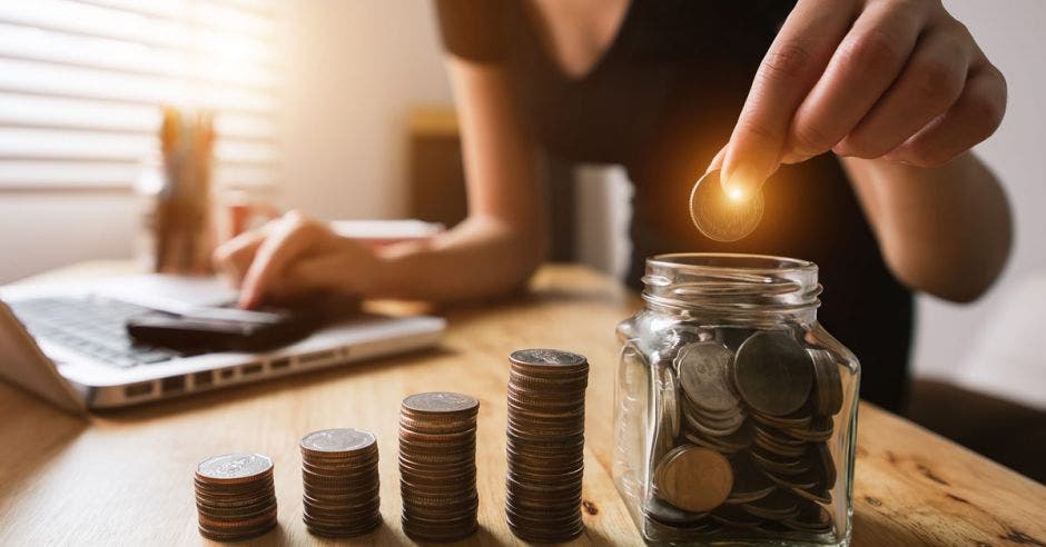
<path id="1" fill-rule="evenodd" d="M 352 537 L 382 523 L 377 441 L 357 429 L 325 429 L 302 438 L 304 520 L 313 534 Z"/>

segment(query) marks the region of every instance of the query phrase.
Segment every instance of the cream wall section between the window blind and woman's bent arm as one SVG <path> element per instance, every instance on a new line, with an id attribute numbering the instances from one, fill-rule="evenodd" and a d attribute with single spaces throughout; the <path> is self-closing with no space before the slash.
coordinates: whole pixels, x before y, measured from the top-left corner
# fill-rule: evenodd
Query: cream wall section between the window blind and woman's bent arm
<path id="1" fill-rule="evenodd" d="M 450 105 L 430 1 L 289 2 L 284 201 L 405 215 L 408 111 Z"/>

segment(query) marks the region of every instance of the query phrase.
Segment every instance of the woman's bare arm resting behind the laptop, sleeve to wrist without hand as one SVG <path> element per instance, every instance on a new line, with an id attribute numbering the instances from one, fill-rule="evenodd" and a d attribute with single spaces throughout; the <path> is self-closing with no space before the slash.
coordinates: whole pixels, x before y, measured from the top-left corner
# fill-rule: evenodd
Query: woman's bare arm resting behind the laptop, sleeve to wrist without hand
<path id="1" fill-rule="evenodd" d="M 454 57 L 446 64 L 461 121 L 468 218 L 431 242 L 384 250 L 376 296 L 460 300 L 506 292 L 545 256 L 536 147 L 512 105 L 504 69 Z"/>

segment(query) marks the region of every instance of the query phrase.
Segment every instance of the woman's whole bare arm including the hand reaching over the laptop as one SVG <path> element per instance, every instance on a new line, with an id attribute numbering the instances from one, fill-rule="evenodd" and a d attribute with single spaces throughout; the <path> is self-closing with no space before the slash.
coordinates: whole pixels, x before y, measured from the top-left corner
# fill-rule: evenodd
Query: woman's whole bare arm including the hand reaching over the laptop
<path id="1" fill-rule="evenodd" d="M 461 120 L 468 217 L 424 242 L 371 250 L 288 213 L 216 251 L 243 287 L 240 305 L 314 294 L 470 300 L 523 285 L 545 256 L 536 147 L 512 105 L 503 69 L 447 59 Z"/>

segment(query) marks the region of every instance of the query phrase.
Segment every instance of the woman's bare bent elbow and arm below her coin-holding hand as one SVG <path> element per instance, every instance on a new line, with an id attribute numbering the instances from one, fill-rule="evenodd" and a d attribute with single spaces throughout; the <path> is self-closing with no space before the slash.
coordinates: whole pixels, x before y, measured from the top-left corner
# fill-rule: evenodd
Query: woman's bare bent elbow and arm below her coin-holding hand
<path id="1" fill-rule="evenodd" d="M 843 158 L 887 265 L 905 285 L 948 300 L 980 296 L 1012 243 L 1006 195 L 965 152 L 940 167 Z"/>

